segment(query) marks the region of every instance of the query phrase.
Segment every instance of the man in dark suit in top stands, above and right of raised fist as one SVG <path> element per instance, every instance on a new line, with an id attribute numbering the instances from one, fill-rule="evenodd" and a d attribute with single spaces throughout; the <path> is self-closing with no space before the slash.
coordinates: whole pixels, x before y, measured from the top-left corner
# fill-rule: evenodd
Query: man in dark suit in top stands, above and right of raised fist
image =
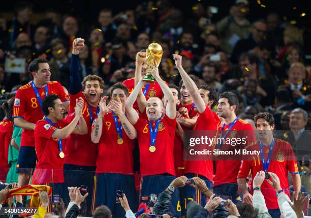
<path id="1" fill-rule="evenodd" d="M 111 42 L 117 29 L 116 25 L 112 22 L 112 11 L 110 9 L 101 10 L 98 16 L 98 23 L 98 28 L 104 33 L 106 41 Z"/>

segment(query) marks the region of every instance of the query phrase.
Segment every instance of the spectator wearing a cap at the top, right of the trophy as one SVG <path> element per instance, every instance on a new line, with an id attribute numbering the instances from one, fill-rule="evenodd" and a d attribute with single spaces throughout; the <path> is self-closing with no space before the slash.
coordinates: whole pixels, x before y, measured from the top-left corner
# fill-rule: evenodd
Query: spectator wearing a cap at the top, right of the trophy
<path id="1" fill-rule="evenodd" d="M 247 0 L 236 0 L 235 4 L 230 7 L 230 15 L 216 24 L 220 46 L 227 54 L 231 54 L 236 43 L 241 39 L 246 39 L 250 33 L 248 29 L 251 23 L 245 18 L 248 10 Z"/>

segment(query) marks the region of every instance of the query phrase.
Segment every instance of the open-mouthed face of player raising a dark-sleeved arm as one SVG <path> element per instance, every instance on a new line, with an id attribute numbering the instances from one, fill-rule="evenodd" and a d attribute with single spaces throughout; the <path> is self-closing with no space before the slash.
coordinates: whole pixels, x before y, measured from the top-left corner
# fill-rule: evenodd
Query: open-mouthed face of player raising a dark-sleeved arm
<path id="1" fill-rule="evenodd" d="M 100 101 L 103 89 L 100 87 L 98 80 L 90 80 L 85 82 L 83 94 L 88 104 L 96 104 Z"/>

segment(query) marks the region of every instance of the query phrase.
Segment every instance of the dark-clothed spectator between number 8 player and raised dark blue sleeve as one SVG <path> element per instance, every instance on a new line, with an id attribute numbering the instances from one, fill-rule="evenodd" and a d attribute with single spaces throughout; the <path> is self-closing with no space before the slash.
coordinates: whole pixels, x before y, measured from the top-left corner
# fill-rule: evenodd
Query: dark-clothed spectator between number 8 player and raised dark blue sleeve
<path id="1" fill-rule="evenodd" d="M 51 79 L 61 81 L 61 84 L 69 88 L 70 59 L 67 56 L 66 43 L 59 39 L 51 41 L 52 58 L 49 61 L 52 72 Z"/>

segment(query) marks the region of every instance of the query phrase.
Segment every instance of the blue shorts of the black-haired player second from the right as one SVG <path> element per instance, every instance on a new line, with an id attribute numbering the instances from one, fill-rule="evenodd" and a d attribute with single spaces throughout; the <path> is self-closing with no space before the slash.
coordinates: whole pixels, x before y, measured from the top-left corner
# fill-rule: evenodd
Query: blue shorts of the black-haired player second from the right
<path id="1" fill-rule="evenodd" d="M 237 190 L 238 184 L 227 183 L 214 186 L 213 193 L 223 199 L 230 199 L 234 204 L 239 204 L 243 202 L 243 195 L 237 194 Z"/>

